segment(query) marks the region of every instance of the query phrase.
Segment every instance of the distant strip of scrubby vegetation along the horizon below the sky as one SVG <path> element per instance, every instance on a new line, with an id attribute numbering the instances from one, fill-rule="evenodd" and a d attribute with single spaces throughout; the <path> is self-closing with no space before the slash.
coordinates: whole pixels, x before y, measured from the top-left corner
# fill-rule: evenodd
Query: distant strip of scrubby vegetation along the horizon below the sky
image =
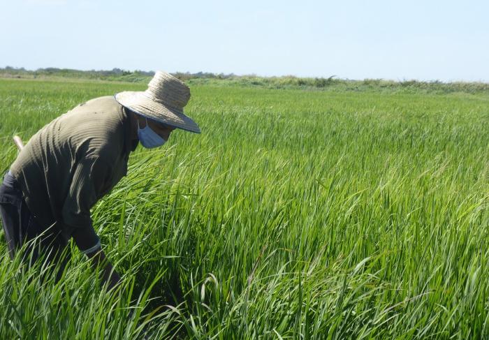
<path id="1" fill-rule="evenodd" d="M 110 82 L 136 82 L 147 84 L 154 72 L 149 71 L 123 71 L 114 68 L 112 71 L 78 71 L 65 68 L 40 68 L 36 71 L 27 71 L 24 68 L 0 68 L 0 77 L 14 78 L 40 78 L 48 80 L 66 81 L 68 79 L 79 81 L 103 80 Z M 455 92 L 467 94 L 487 94 L 489 84 L 482 82 L 450 82 L 439 81 L 419 82 L 417 80 L 404 80 L 395 82 L 392 80 L 365 79 L 342 80 L 334 75 L 328 78 L 301 78 L 293 75 L 283 77 L 258 77 L 256 75 L 233 75 L 214 73 L 173 73 L 175 77 L 184 80 L 190 85 L 211 85 L 218 87 L 256 87 L 265 89 L 305 89 L 316 91 L 335 92 L 365 92 L 378 91 L 383 93 L 430 93 L 450 94 Z"/>

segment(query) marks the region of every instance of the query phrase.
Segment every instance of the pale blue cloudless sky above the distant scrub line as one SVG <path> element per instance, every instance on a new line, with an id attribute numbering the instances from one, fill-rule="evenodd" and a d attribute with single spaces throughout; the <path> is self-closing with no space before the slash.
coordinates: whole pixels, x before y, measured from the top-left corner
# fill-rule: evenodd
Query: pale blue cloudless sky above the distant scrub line
<path id="1" fill-rule="evenodd" d="M 489 1 L 0 0 L 0 67 L 489 82 Z"/>

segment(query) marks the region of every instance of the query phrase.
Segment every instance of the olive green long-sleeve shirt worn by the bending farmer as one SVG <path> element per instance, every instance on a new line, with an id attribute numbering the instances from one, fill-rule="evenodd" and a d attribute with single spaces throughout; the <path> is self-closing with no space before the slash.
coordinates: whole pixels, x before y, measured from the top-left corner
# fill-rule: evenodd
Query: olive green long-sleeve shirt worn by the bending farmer
<path id="1" fill-rule="evenodd" d="M 137 145 L 126 109 L 94 98 L 41 128 L 10 171 L 36 221 L 87 252 L 99 244 L 90 209 L 126 175 Z"/>

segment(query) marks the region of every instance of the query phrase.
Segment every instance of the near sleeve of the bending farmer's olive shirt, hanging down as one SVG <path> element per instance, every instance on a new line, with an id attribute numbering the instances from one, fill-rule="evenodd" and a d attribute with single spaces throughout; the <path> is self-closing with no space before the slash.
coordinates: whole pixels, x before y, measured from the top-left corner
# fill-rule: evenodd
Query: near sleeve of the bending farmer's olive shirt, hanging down
<path id="1" fill-rule="evenodd" d="M 100 249 L 100 239 L 92 226 L 90 209 L 101 198 L 111 173 L 110 164 L 98 157 L 82 158 L 75 167 L 62 216 L 67 235 L 78 249 L 92 253 Z"/>

